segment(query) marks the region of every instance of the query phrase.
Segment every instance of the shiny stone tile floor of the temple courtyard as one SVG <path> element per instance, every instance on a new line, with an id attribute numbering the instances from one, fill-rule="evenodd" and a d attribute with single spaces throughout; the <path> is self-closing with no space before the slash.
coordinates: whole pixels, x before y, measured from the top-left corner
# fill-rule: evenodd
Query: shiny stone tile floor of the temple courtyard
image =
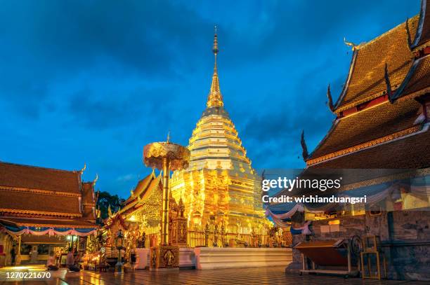
<path id="1" fill-rule="evenodd" d="M 365 280 L 359 278 L 344 279 L 343 277 L 332 277 L 323 275 L 285 274 L 284 267 L 259 267 L 238 268 L 219 270 L 181 270 L 177 272 L 150 272 L 148 270 L 136 270 L 121 276 L 115 276 L 112 272 L 70 272 L 63 279 L 51 278 L 44 281 L 0 281 L 1 285 L 11 284 L 416 284 L 424 285 L 424 281 L 391 281 L 391 280 Z"/>

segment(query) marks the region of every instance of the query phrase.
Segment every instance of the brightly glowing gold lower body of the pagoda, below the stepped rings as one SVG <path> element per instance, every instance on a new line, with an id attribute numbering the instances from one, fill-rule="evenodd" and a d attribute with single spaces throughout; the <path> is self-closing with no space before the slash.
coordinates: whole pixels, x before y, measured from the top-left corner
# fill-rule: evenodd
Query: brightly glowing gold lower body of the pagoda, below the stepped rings
<path id="1" fill-rule="evenodd" d="M 266 224 L 261 207 L 261 189 L 256 176 L 230 169 L 200 169 L 175 172 L 171 191 L 182 197 L 190 223 L 208 221 L 255 228 Z"/>

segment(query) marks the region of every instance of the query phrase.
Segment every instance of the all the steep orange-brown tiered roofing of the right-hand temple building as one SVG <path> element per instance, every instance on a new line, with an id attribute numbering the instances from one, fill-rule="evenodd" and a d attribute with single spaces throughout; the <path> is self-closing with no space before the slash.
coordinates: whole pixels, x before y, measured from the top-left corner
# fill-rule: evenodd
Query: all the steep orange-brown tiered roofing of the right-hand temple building
<path id="1" fill-rule="evenodd" d="M 422 153 L 430 135 L 423 97 L 430 91 L 430 56 L 429 50 L 410 48 L 418 41 L 415 34 L 424 41 L 429 16 L 420 13 L 354 47 L 348 80 L 334 106 L 337 118 L 306 157 L 308 167 L 429 167 Z"/>

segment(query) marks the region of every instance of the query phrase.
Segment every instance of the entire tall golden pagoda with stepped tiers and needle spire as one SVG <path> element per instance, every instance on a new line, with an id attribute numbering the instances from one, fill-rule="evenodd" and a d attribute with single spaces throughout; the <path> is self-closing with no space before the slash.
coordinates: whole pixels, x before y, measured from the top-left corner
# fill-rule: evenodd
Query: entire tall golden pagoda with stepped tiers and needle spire
<path id="1" fill-rule="evenodd" d="M 212 51 L 215 63 L 207 108 L 189 141 L 190 166 L 174 172 L 171 193 L 177 201 L 182 198 L 189 223 L 260 228 L 270 223 L 261 205 L 261 179 L 224 109 L 216 67 L 216 30 Z"/>

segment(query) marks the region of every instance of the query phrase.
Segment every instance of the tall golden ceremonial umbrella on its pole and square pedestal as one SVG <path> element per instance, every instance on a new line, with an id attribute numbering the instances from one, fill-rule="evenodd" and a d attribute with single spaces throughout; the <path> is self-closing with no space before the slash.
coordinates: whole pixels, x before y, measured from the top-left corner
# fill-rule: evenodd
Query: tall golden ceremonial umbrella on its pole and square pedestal
<path id="1" fill-rule="evenodd" d="M 171 170 L 188 167 L 190 151 L 188 148 L 169 142 L 155 142 L 143 148 L 143 162 L 163 172 L 162 232 L 159 246 L 150 249 L 150 268 L 179 267 L 179 247 L 169 244 L 169 175 Z"/>

